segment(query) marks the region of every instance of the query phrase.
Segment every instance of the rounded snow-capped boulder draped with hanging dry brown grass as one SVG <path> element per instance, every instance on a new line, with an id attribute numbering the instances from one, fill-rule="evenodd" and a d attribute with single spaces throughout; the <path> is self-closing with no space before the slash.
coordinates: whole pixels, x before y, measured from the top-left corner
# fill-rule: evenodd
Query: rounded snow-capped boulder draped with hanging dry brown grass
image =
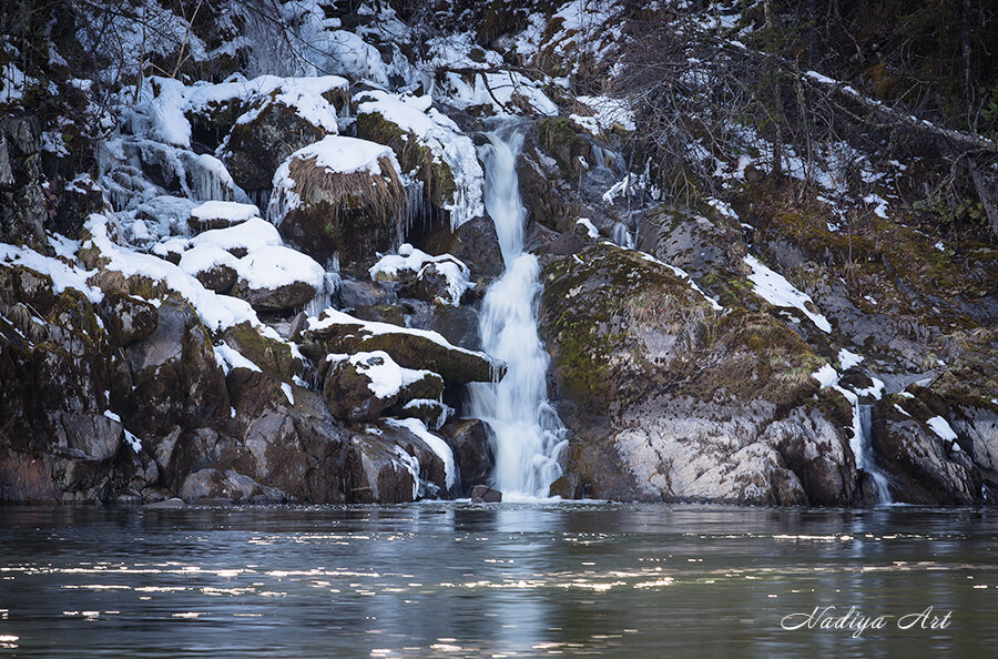
<path id="1" fill-rule="evenodd" d="M 274 175 L 281 235 L 320 263 L 371 258 L 401 242 L 405 187 L 387 146 L 328 136 L 295 152 Z"/>

